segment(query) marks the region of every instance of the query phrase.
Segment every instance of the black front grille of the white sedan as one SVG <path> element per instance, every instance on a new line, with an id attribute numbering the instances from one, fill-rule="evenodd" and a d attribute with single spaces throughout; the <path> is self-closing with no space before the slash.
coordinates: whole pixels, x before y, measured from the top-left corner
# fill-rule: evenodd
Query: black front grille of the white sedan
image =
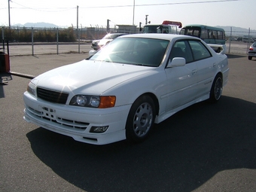
<path id="1" fill-rule="evenodd" d="M 41 87 L 37 87 L 36 93 L 38 98 L 47 102 L 54 102 L 59 104 L 66 104 L 69 93 L 58 92 L 54 90 L 47 90 Z"/>

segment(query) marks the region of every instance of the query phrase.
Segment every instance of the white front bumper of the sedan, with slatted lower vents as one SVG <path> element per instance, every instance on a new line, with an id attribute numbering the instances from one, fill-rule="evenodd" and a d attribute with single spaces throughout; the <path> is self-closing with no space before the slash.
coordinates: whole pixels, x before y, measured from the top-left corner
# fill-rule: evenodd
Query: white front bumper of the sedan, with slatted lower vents
<path id="1" fill-rule="evenodd" d="M 47 130 L 71 136 L 79 142 L 105 145 L 126 139 L 126 117 L 131 105 L 114 108 L 83 108 L 60 105 L 23 94 L 25 102 L 23 119 Z M 108 126 L 104 133 L 90 133 L 92 126 Z"/>

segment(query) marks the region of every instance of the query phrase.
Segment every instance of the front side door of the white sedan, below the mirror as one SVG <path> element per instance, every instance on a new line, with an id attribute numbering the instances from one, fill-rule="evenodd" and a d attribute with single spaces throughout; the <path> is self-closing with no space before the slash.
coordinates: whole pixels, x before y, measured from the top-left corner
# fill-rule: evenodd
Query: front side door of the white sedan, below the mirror
<path id="1" fill-rule="evenodd" d="M 197 64 L 192 62 L 192 53 L 187 41 L 177 41 L 169 54 L 169 60 L 175 57 L 186 59 L 185 66 L 166 68 L 167 105 L 166 111 L 173 110 L 195 99 L 197 84 Z"/>

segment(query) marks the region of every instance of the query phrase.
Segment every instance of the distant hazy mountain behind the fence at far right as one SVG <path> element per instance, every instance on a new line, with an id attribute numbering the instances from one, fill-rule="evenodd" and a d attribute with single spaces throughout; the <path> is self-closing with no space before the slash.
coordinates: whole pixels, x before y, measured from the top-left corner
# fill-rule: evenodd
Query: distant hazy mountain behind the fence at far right
<path id="1" fill-rule="evenodd" d="M 224 29 L 226 32 L 226 36 L 230 36 L 231 32 L 231 27 L 232 27 L 232 36 L 243 36 L 243 35 L 248 35 L 249 29 L 241 28 L 241 27 L 236 27 L 236 26 L 216 26 Z M 256 30 L 251 30 L 250 29 L 250 35 L 256 36 Z"/>

